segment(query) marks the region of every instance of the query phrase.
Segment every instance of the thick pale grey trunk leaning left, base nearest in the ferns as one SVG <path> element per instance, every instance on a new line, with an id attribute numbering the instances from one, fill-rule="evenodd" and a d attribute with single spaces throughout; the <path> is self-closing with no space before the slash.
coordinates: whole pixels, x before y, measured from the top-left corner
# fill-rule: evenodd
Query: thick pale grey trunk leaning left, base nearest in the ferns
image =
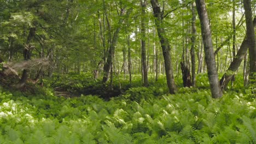
<path id="1" fill-rule="evenodd" d="M 213 98 L 222 97 L 222 89 L 219 85 L 218 73 L 216 69 L 216 62 L 212 45 L 212 34 L 210 29 L 210 22 L 205 7 L 204 0 L 196 0 L 196 9 L 199 15 L 201 32 L 203 38 L 203 45 L 205 50 L 205 61 L 207 66 L 208 79 L 210 82 L 211 93 Z"/>

